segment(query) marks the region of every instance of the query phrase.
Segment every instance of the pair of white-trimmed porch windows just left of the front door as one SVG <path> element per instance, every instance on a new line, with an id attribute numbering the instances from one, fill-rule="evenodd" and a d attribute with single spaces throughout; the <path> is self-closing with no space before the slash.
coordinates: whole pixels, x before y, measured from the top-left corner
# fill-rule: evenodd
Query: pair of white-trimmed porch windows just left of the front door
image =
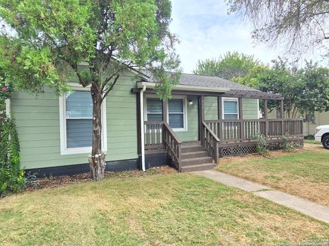
<path id="1" fill-rule="evenodd" d="M 168 124 L 175 131 L 187 131 L 186 96 L 173 96 L 168 100 Z M 145 97 L 145 120 L 162 120 L 162 100 L 155 96 Z"/>

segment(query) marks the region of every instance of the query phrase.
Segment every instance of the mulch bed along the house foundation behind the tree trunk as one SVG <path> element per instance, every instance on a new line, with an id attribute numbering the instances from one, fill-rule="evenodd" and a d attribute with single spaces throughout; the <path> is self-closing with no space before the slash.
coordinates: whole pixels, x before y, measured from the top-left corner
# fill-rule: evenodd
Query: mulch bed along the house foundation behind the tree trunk
<path id="1" fill-rule="evenodd" d="M 106 172 L 105 178 L 130 178 L 130 177 L 145 177 L 158 174 L 173 174 L 177 172 L 169 166 L 153 167 L 147 169 L 146 172 L 139 170 L 124 171 L 124 172 Z M 75 174 L 73 176 L 58 176 L 53 178 L 38 178 L 33 180 L 25 189 L 25 192 L 34 191 L 36 189 L 46 189 L 52 187 L 61 187 L 67 184 L 75 184 L 81 182 L 93 181 L 89 173 Z"/>

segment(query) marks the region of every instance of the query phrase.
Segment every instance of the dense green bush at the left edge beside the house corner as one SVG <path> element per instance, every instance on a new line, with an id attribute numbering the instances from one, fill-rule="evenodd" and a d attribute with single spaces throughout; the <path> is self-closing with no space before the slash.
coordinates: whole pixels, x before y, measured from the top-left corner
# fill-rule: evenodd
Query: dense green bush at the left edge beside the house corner
<path id="1" fill-rule="evenodd" d="M 0 118 L 0 195 L 21 191 L 25 187 L 21 169 L 19 137 L 14 120 Z"/>

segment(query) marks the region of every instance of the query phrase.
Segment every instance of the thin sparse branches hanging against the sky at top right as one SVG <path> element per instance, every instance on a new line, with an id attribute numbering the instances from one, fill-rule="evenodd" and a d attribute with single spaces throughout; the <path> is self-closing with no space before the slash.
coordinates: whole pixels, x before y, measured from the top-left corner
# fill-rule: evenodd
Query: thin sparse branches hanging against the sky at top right
<path id="1" fill-rule="evenodd" d="M 252 37 L 270 46 L 285 45 L 287 51 L 326 47 L 328 0 L 226 0 L 234 14 L 254 26 Z"/>

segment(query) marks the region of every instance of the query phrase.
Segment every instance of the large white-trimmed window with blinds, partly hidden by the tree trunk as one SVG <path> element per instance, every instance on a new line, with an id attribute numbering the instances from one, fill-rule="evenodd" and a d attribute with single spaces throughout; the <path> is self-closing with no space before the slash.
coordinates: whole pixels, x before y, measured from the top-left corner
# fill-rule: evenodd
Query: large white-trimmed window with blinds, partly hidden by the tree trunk
<path id="1" fill-rule="evenodd" d="M 60 97 L 60 153 L 88 153 L 93 145 L 93 101 L 90 88 L 75 85 Z M 102 103 L 102 147 L 106 151 L 106 107 Z"/>

